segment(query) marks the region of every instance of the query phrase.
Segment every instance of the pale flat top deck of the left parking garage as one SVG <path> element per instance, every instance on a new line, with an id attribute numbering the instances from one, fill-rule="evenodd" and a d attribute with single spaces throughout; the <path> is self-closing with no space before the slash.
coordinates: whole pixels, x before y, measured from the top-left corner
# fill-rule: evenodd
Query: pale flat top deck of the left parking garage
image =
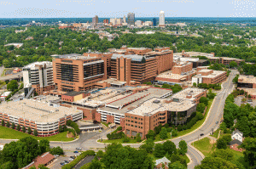
<path id="1" fill-rule="evenodd" d="M 75 115 L 79 112 L 81 111 L 58 106 L 57 104 L 50 106 L 47 100 L 40 102 L 35 99 L 23 99 L 0 105 L 0 113 L 35 121 L 35 123 L 55 122 L 66 115 Z"/>

